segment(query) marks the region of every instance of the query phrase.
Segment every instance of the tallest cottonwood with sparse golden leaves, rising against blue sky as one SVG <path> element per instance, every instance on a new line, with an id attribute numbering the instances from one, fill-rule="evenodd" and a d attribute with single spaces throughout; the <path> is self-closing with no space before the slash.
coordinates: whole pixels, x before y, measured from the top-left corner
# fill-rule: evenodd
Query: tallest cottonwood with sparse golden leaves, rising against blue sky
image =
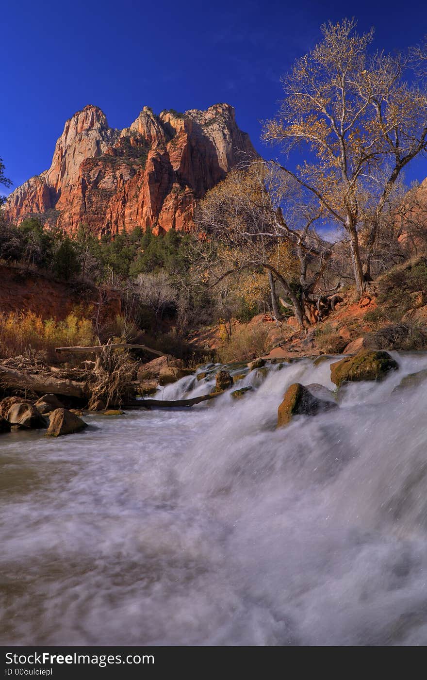
<path id="1" fill-rule="evenodd" d="M 345 19 L 324 24 L 322 33 L 322 41 L 283 79 L 286 97 L 263 137 L 286 152 L 309 151 L 296 170 L 277 165 L 316 197 L 325 216 L 344 226 L 362 294 L 358 228 L 369 213 L 369 266 L 394 184 L 427 148 L 427 95 L 416 78 L 411 86 L 404 80 L 413 65 L 408 55 L 369 51 L 373 29 L 359 35 L 356 21 Z"/>

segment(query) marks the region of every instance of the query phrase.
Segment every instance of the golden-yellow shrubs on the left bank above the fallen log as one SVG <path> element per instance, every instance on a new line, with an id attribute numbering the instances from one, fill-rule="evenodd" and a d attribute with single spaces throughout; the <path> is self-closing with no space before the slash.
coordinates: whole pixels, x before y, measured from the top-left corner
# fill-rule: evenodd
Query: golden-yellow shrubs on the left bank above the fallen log
<path id="1" fill-rule="evenodd" d="M 55 347 L 92 345 L 94 341 L 92 322 L 75 311 L 64 321 L 43 320 L 32 311 L 0 313 L 1 358 L 36 350 L 51 359 Z"/>

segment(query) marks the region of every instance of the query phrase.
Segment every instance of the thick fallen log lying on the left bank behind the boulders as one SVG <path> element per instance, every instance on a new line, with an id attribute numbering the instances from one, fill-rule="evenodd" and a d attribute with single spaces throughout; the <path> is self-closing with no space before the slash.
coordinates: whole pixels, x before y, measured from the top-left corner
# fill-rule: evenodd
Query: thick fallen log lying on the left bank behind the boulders
<path id="1" fill-rule="evenodd" d="M 84 383 L 53 377 L 52 375 L 33 375 L 0 366 L 0 384 L 13 390 L 31 390 L 36 394 L 61 394 L 84 398 Z"/>

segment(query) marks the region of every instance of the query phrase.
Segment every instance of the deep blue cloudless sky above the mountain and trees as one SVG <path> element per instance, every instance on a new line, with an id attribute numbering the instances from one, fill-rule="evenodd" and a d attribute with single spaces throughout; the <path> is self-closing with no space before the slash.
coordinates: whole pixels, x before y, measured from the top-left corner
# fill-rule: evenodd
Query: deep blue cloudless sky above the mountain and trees
<path id="1" fill-rule="evenodd" d="M 204 109 L 226 101 L 264 156 L 260 120 L 273 116 L 280 75 L 343 18 L 331 0 L 18 0 L 1 10 L 0 156 L 18 186 L 50 166 L 63 124 L 88 103 L 111 126 L 143 107 Z M 359 0 L 347 11 L 393 50 L 427 33 L 425 0 Z M 407 180 L 427 176 L 427 160 Z"/>

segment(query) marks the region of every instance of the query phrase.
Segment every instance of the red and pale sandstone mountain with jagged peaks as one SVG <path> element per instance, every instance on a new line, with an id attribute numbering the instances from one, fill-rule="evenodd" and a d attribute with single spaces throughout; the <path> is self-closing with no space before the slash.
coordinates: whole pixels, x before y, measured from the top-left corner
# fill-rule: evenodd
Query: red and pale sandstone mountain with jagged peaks
<path id="1" fill-rule="evenodd" d="M 68 232 L 79 224 L 99 234 L 187 229 L 194 202 L 254 155 L 228 104 L 159 116 L 145 106 L 122 131 L 88 105 L 65 123 L 50 168 L 14 190 L 5 212 L 12 222 L 37 215 Z"/>

